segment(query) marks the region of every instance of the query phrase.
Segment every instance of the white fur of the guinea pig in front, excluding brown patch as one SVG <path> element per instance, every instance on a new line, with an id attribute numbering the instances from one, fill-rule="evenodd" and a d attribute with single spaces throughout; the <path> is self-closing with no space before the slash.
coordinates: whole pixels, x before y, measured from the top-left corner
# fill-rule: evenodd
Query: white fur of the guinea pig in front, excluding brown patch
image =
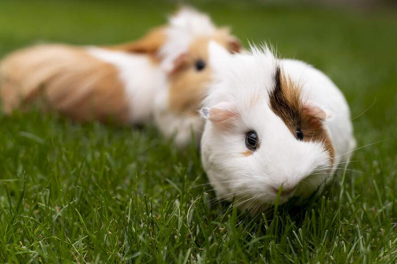
<path id="1" fill-rule="evenodd" d="M 233 105 L 237 118 L 220 127 L 209 120 L 201 139 L 201 156 L 210 183 L 220 198 L 233 199 L 250 210 L 271 205 L 277 190 L 296 187 L 282 195 L 307 197 L 330 179 L 330 156 L 319 142 L 299 141 L 269 107 L 269 92 L 274 87 L 276 64 L 302 86 L 302 100 L 333 113 L 324 121 L 335 150 L 333 163 L 345 161 L 354 146 L 350 112 L 346 100 L 331 80 L 303 62 L 278 60 L 267 49 L 252 48 L 251 54 L 228 55 L 216 43 L 209 47 L 211 66 L 217 80 L 211 87 L 204 107 L 211 109 L 222 102 Z M 252 104 L 253 98 L 256 103 Z M 246 132 L 258 133 L 260 146 L 253 155 L 244 156 Z M 317 174 L 321 173 L 321 174 Z"/>

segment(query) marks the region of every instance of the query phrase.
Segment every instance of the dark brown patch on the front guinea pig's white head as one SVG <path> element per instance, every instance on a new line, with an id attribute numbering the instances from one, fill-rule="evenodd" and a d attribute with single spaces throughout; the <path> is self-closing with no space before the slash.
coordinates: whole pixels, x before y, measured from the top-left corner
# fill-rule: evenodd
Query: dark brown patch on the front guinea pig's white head
<path id="1" fill-rule="evenodd" d="M 324 117 L 315 110 L 320 109 L 302 102 L 300 87 L 279 66 L 275 69 L 270 107 L 294 136 L 297 132 L 302 132 L 304 141 L 323 142 L 331 158 L 334 156 L 331 139 L 323 127 Z"/>

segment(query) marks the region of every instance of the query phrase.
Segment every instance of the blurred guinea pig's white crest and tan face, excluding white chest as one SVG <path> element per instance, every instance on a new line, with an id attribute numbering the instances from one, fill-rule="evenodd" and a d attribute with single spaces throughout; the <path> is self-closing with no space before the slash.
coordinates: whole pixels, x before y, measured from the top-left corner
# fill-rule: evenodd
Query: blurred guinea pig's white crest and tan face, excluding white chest
<path id="1" fill-rule="evenodd" d="M 208 45 L 215 41 L 229 53 L 239 52 L 239 40 L 227 27 L 216 27 L 210 17 L 191 7 L 169 18 L 166 41 L 160 48 L 160 66 L 168 73 L 169 108 L 197 115 L 212 80 Z"/>

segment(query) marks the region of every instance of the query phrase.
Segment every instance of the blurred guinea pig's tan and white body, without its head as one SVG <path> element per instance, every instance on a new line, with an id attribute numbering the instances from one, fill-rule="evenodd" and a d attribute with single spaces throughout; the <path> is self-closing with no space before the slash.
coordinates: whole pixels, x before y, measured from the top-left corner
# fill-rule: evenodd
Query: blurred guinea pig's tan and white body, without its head
<path id="1" fill-rule="evenodd" d="M 1 63 L 3 110 L 11 113 L 44 97 L 45 107 L 80 121 L 149 120 L 166 75 L 144 54 L 95 47 L 40 45 Z"/>

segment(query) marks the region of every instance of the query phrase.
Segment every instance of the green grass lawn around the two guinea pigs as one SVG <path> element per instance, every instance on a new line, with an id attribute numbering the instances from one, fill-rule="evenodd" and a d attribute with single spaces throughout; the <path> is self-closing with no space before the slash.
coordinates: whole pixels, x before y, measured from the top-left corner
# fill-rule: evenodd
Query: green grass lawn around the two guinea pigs
<path id="1" fill-rule="evenodd" d="M 0 56 L 41 40 L 129 40 L 172 6 L 1 1 Z M 150 126 L 0 114 L 0 262 L 397 261 L 397 10 L 199 6 L 243 40 L 329 74 L 359 146 L 391 139 L 357 150 L 308 207 L 252 218 L 214 200 L 194 147 L 177 151 Z"/>

